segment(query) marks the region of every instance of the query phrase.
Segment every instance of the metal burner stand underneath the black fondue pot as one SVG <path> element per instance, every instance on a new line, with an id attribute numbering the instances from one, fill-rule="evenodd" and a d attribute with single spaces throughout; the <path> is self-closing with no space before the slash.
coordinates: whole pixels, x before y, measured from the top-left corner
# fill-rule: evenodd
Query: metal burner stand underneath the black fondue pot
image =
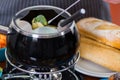
<path id="1" fill-rule="evenodd" d="M 61 66 L 59 70 L 55 68 L 49 70 L 46 68 L 31 68 L 19 64 L 18 62 L 13 61 L 10 56 L 5 53 L 7 64 L 2 80 L 81 80 L 75 74 L 74 65 L 79 59 L 79 53 L 66 65 Z M 44 72 L 43 72 L 44 71 Z"/>

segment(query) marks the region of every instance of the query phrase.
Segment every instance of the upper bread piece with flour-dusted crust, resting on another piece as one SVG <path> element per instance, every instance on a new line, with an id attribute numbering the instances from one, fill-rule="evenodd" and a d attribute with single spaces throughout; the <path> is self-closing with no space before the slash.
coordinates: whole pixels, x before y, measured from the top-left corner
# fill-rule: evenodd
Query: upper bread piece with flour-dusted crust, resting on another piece
<path id="1" fill-rule="evenodd" d="M 84 18 L 77 22 L 80 34 L 120 49 L 120 26 L 97 18 Z"/>

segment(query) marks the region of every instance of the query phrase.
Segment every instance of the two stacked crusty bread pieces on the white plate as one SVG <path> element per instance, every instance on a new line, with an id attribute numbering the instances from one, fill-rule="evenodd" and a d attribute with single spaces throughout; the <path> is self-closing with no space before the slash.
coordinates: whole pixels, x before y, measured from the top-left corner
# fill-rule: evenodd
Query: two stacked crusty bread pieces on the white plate
<path id="1" fill-rule="evenodd" d="M 120 72 L 120 26 L 97 18 L 77 22 L 81 58 Z"/>

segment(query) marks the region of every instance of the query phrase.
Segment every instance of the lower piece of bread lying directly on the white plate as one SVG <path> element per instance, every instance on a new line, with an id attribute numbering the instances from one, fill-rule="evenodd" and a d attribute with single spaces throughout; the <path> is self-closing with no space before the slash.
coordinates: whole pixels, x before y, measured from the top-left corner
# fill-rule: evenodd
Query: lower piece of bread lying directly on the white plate
<path id="1" fill-rule="evenodd" d="M 120 50 L 81 35 L 79 51 L 81 58 L 120 72 Z"/>

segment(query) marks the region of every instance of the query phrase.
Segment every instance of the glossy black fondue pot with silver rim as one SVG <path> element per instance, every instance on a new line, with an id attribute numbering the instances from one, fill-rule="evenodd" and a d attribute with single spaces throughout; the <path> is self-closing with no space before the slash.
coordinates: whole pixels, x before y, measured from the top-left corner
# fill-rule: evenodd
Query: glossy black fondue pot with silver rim
<path id="1" fill-rule="evenodd" d="M 57 33 L 40 34 L 23 30 L 16 23 L 17 19 L 31 23 L 32 19 L 43 14 L 47 20 L 52 19 L 63 9 L 53 6 L 32 6 L 19 11 L 12 20 L 7 35 L 7 56 L 14 61 L 32 67 L 59 67 L 68 63 L 77 54 L 78 33 L 75 23 L 71 22 Z M 68 18 L 63 13 L 50 25 L 57 26 L 61 19 Z"/>

